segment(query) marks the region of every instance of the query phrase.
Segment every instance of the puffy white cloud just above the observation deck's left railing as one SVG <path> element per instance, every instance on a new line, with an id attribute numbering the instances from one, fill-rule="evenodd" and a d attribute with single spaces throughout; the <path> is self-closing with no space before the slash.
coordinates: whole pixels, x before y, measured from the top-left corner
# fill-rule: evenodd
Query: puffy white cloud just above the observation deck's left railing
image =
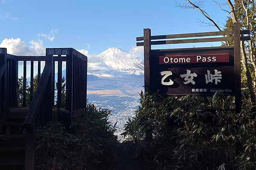
<path id="1" fill-rule="evenodd" d="M 31 44 L 29 47 L 26 42 L 22 41 L 20 38 L 17 39 L 4 39 L 0 47 L 7 48 L 8 54 L 29 56 L 29 55 L 45 55 L 45 48 L 41 40 L 32 40 L 29 42 Z"/>

